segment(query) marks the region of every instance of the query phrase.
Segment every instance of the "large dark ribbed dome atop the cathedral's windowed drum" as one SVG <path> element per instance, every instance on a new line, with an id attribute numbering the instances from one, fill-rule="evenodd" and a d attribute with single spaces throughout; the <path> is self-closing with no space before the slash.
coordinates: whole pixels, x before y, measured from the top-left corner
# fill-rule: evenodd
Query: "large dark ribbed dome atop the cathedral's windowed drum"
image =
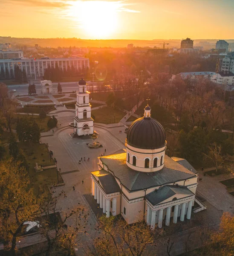
<path id="1" fill-rule="evenodd" d="M 162 148 L 166 145 L 165 140 L 164 128 L 150 116 L 137 119 L 127 132 L 127 144 L 135 148 Z"/>

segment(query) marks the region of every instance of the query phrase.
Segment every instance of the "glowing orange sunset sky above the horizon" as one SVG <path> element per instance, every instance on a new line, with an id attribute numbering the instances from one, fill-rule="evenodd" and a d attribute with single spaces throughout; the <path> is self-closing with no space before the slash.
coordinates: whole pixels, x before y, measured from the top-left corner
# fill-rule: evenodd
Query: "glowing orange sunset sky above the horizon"
<path id="1" fill-rule="evenodd" d="M 234 39 L 234 0 L 0 0 L 0 36 Z"/>

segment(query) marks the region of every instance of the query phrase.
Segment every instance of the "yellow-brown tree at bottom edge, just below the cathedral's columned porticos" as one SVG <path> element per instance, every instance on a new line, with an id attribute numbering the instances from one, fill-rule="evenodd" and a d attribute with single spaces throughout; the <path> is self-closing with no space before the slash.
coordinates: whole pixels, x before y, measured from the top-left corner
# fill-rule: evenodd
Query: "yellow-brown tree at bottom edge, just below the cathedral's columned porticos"
<path id="1" fill-rule="evenodd" d="M 124 220 L 119 220 L 116 224 L 114 221 L 113 216 L 110 218 L 103 216 L 99 219 L 98 237 L 94 239 L 94 246 L 89 246 L 92 255 L 141 256 L 146 247 L 155 244 L 153 240 L 155 231 L 151 231 L 144 222 L 127 225 Z"/>

